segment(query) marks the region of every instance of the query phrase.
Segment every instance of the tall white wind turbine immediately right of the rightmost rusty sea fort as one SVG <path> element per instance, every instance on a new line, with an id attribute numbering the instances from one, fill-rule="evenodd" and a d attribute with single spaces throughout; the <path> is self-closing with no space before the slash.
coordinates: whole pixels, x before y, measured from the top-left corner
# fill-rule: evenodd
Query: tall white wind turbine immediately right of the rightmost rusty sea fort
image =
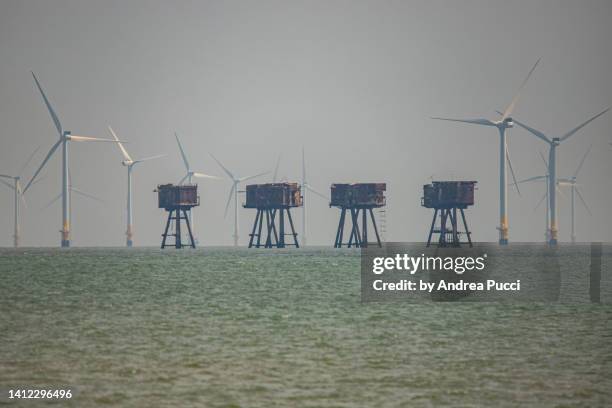
<path id="1" fill-rule="evenodd" d="M 517 184 L 516 177 L 514 175 L 514 170 L 512 169 L 512 164 L 509 158 L 508 145 L 506 143 L 506 129 L 513 127 L 513 121 L 511 117 L 512 111 L 514 110 L 514 107 L 521 95 L 523 88 L 527 84 L 529 77 L 531 76 L 535 68 L 538 66 L 539 62 L 540 62 L 540 59 L 538 59 L 536 63 L 534 64 L 533 68 L 531 68 L 531 71 L 529 71 L 529 73 L 527 74 L 527 77 L 521 84 L 521 87 L 519 88 L 514 98 L 512 98 L 512 101 L 510 102 L 506 110 L 503 113 L 501 113 L 501 119 L 497 121 L 491 121 L 489 119 L 450 119 L 450 118 L 439 118 L 439 117 L 432 118 L 432 119 L 437 119 L 437 120 L 448 120 L 448 121 L 453 121 L 453 122 L 470 123 L 474 125 L 492 126 L 492 127 L 497 128 L 499 132 L 499 227 L 498 227 L 498 230 L 499 230 L 499 244 L 500 245 L 508 244 L 508 212 L 507 212 L 508 176 L 506 175 L 506 166 L 507 166 L 506 162 L 510 165 L 510 172 L 512 173 L 512 178 L 514 179 L 514 183 Z"/>

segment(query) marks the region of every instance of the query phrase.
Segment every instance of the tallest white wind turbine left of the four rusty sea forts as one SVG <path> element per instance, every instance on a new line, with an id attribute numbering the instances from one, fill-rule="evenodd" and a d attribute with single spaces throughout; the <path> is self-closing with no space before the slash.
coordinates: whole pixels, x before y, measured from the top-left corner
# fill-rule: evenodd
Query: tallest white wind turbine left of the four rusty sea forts
<path id="1" fill-rule="evenodd" d="M 51 119 L 53 119 L 53 123 L 55 124 L 55 128 L 59 133 L 59 140 L 51 147 L 49 153 L 43 160 L 42 164 L 36 170 L 26 187 L 23 189 L 23 193 L 25 194 L 28 191 L 28 188 L 32 185 L 38 173 L 45 167 L 51 156 L 55 153 L 58 147 L 62 146 L 62 229 L 61 229 L 61 246 L 67 248 L 70 246 L 70 197 L 68 191 L 68 142 L 115 142 L 110 139 L 101 139 L 97 137 L 88 137 L 88 136 L 77 136 L 73 135 L 69 130 L 64 130 L 62 124 L 51 107 L 51 103 L 47 99 L 45 92 L 43 91 L 40 83 L 38 82 L 38 78 L 32 72 L 32 76 L 34 77 L 34 81 L 36 82 L 36 86 L 40 91 L 40 94 L 45 101 L 45 105 L 47 106 L 47 110 L 51 115 Z"/>

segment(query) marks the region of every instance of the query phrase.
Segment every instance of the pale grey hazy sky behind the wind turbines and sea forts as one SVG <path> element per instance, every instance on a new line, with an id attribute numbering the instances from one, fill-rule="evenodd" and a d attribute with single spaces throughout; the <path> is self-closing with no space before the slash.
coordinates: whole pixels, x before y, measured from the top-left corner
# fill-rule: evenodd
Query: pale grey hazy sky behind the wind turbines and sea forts
<path id="1" fill-rule="evenodd" d="M 388 183 L 389 240 L 426 237 L 421 189 L 436 179 L 478 180 L 468 211 L 474 238 L 495 241 L 495 129 L 430 116 L 491 117 L 538 57 L 515 117 L 561 134 L 612 103 L 612 2 L 602 1 L 0 1 L 0 173 L 57 134 L 33 70 L 66 129 L 108 137 L 111 124 L 133 156 L 168 156 L 135 171 L 135 242 L 157 245 L 165 214 L 153 189 L 183 174 L 172 133 L 194 170 L 222 176 L 215 154 L 240 175 L 272 169 L 309 181 Z M 580 240 L 612 240 L 612 114 L 559 149 L 569 176 L 590 143 L 580 182 L 591 205 L 577 210 Z M 541 174 L 545 145 L 509 133 L 519 178 Z M 59 243 L 60 160 L 27 195 L 24 245 Z M 73 184 L 106 200 L 73 200 L 74 245 L 123 245 L 125 168 L 113 145 L 72 144 Z M 34 166 L 25 172 L 30 177 Z M 269 178 L 261 178 L 269 181 Z M 230 184 L 200 183 L 196 230 L 204 245 L 231 243 L 223 218 Z M 541 241 L 543 185 L 510 193 L 510 238 Z M 569 240 L 569 195 L 559 199 Z M 12 195 L 0 186 L 0 246 L 12 243 Z M 241 209 L 241 242 L 254 213 Z M 311 196 L 309 241 L 332 244 L 337 209 Z M 296 218 L 301 219 L 296 212 Z M 301 231 L 301 228 L 300 228 Z"/>

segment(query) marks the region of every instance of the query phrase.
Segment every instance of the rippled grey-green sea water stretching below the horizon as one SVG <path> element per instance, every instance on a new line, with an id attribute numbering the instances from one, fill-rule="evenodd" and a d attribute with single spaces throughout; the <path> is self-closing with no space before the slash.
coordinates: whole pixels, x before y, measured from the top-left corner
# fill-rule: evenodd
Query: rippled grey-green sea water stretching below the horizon
<path id="1" fill-rule="evenodd" d="M 74 407 L 612 399 L 609 298 L 362 303 L 359 255 L 0 249 L 0 389 L 71 388 L 55 403 Z"/>

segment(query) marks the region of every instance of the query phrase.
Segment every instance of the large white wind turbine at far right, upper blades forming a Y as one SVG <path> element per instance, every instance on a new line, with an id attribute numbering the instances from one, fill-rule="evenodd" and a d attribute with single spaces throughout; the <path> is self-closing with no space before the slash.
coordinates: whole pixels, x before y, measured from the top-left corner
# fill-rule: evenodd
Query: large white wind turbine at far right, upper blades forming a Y
<path id="1" fill-rule="evenodd" d="M 557 180 L 557 146 L 559 146 L 561 142 L 569 139 L 580 129 L 582 129 L 583 127 L 585 127 L 586 125 L 588 125 L 589 123 L 591 123 L 592 121 L 594 121 L 595 119 L 603 115 L 604 113 L 608 112 L 609 110 L 610 108 L 601 111 L 600 113 L 593 116 L 586 122 L 576 126 L 574 129 L 570 130 L 569 132 L 567 132 L 566 134 L 560 137 L 549 137 L 545 135 L 544 133 L 540 132 L 539 130 L 536 130 L 530 126 L 527 126 L 526 124 L 521 123 L 518 120 L 514 120 L 514 123 L 516 123 L 523 129 L 525 129 L 529 133 L 533 134 L 538 139 L 545 141 L 549 145 L 548 174 L 550 175 L 550 177 L 548 179 L 548 183 L 549 183 L 550 194 L 548 197 L 548 208 L 549 208 L 549 213 L 550 213 L 550 240 L 548 242 L 550 245 L 557 244 L 557 235 L 559 231 L 557 227 L 557 194 L 556 194 L 556 189 L 555 189 L 555 182 Z"/>

